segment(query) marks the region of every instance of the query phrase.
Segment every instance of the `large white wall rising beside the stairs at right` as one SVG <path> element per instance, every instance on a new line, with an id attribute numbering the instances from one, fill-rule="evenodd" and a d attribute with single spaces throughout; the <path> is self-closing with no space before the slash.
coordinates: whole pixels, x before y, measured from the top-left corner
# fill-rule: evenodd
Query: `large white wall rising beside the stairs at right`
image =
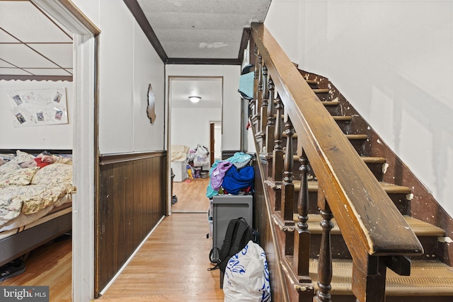
<path id="1" fill-rule="evenodd" d="M 287 42 L 294 12 L 298 35 Z M 453 1 L 274 0 L 265 25 L 301 69 L 333 82 L 452 215 Z"/>

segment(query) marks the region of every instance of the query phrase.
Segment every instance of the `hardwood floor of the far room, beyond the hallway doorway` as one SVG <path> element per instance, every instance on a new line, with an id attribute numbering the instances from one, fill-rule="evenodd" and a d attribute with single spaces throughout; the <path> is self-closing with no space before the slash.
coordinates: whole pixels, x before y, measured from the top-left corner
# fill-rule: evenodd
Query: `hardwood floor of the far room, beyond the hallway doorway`
<path id="1" fill-rule="evenodd" d="M 207 211 L 210 199 L 206 197 L 209 178 L 194 178 L 194 180 L 173 182 L 173 194 L 178 202 L 173 204 L 171 211 Z"/>

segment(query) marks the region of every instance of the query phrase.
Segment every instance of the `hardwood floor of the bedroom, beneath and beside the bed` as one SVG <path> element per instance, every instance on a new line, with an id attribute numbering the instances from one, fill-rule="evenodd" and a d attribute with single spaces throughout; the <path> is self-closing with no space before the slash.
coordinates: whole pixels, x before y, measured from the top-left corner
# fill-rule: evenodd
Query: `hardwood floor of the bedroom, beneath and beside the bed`
<path id="1" fill-rule="evenodd" d="M 60 236 L 36 248 L 25 262 L 25 272 L 0 286 L 49 286 L 49 301 L 71 301 L 71 248 L 71 236 Z"/>

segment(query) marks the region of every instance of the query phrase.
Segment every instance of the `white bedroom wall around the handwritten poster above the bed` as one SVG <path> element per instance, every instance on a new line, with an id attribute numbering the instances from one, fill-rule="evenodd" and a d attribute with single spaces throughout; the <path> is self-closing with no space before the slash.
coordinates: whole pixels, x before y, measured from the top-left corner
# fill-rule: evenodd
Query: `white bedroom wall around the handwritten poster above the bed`
<path id="1" fill-rule="evenodd" d="M 13 127 L 7 91 L 66 88 L 68 124 Z M 0 149 L 72 149 L 74 122 L 72 82 L 68 81 L 0 81 Z"/>

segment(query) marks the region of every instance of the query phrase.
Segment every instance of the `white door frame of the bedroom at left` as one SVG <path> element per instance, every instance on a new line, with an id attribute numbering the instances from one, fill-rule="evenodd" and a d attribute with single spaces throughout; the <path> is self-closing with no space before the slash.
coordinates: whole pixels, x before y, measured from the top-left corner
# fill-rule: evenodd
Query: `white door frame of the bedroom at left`
<path id="1" fill-rule="evenodd" d="M 94 296 L 94 205 L 98 167 L 98 35 L 101 33 L 69 0 L 31 0 L 73 36 L 72 301 Z"/>

